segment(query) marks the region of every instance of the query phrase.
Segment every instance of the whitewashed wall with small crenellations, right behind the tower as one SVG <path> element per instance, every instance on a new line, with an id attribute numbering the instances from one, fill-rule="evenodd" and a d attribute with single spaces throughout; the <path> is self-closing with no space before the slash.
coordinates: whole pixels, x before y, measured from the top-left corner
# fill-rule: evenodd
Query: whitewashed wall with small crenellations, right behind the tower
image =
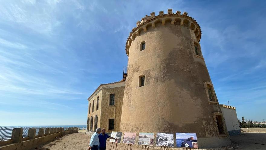
<path id="1" fill-rule="evenodd" d="M 220 105 L 223 117 L 225 119 L 225 125 L 227 127 L 229 135 L 240 135 L 240 128 L 236 115 L 235 107 L 228 105 Z"/>

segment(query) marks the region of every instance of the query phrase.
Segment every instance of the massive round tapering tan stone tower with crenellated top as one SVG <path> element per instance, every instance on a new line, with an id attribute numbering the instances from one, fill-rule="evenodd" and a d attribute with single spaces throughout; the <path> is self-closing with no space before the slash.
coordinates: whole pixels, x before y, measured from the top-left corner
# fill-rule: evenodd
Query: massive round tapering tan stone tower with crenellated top
<path id="1" fill-rule="evenodd" d="M 152 12 L 137 22 L 125 47 L 121 132 L 196 133 L 200 147 L 231 143 L 200 38 L 187 12 Z"/>

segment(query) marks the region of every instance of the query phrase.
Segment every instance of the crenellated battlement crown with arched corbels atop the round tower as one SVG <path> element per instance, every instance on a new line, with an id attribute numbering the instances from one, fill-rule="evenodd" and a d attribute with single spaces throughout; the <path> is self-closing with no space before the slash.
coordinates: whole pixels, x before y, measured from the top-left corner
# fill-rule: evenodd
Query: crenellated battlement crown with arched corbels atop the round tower
<path id="1" fill-rule="evenodd" d="M 144 32 L 147 32 L 147 28 L 149 26 L 155 28 L 155 23 L 157 22 L 161 22 L 162 25 L 165 25 L 166 22 L 170 22 L 171 25 L 180 25 L 187 27 L 194 32 L 197 41 L 200 42 L 201 29 L 198 22 L 196 22 L 194 18 L 190 17 L 187 12 L 183 12 L 183 14 L 181 15 L 180 11 L 173 13 L 173 9 L 168 9 L 167 14 L 164 14 L 164 11 L 160 11 L 159 15 L 155 16 L 155 12 L 152 12 L 150 16 L 145 15 L 145 17 L 143 17 L 141 21 L 138 21 L 136 23 L 137 27 L 132 29 L 132 32 L 129 34 L 126 42 L 125 51 L 127 55 L 131 42 L 135 40 L 136 36 L 139 36 L 142 30 Z"/>

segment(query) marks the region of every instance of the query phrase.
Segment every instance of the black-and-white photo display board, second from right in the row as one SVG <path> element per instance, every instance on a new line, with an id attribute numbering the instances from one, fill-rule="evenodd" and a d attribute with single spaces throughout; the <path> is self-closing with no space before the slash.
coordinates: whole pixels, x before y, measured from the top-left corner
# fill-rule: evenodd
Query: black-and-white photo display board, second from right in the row
<path id="1" fill-rule="evenodd" d="M 157 133 L 156 146 L 174 147 L 174 134 L 173 133 Z"/>

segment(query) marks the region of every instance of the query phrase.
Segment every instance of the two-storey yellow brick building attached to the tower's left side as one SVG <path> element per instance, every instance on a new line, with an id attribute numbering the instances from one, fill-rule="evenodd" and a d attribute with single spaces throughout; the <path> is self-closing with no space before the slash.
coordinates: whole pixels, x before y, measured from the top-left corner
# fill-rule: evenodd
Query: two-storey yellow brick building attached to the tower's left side
<path id="1" fill-rule="evenodd" d="M 101 84 L 88 98 L 87 130 L 119 131 L 125 81 Z"/>

